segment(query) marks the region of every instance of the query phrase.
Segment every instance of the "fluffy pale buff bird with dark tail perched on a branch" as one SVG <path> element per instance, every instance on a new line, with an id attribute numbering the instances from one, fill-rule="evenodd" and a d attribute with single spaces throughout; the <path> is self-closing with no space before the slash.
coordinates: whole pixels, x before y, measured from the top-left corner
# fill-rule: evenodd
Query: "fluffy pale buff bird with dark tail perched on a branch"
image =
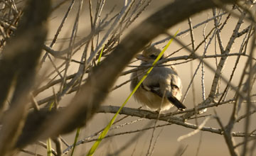
<path id="1" fill-rule="evenodd" d="M 161 50 L 156 48 L 156 45 L 147 45 L 142 50 L 142 55 L 136 56 L 138 60 L 142 60 L 142 63 L 137 67 L 137 72 L 131 75 L 131 90 L 137 86 L 148 70 L 145 66 L 152 65 L 160 52 Z M 165 57 L 163 55 L 160 60 Z M 178 77 L 174 66 L 156 65 L 133 96 L 137 102 L 151 111 L 168 111 L 173 106 L 176 106 L 179 111 L 184 111 L 186 106 L 179 101 L 182 96 L 181 89 L 181 78 Z"/>

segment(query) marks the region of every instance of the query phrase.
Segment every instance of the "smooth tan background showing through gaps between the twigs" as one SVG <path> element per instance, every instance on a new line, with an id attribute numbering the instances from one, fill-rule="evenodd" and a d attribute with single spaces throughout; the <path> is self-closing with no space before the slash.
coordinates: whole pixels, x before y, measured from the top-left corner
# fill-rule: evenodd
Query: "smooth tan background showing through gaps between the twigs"
<path id="1" fill-rule="evenodd" d="M 154 13 L 154 11 L 161 9 L 161 6 L 164 6 L 166 3 L 169 3 L 169 1 L 153 0 L 151 2 L 151 5 L 146 9 L 146 11 L 144 13 L 142 13 L 142 16 L 139 16 L 137 21 L 135 23 L 133 23 L 132 27 L 130 27 L 130 28 L 134 28 L 134 26 L 136 26 L 140 21 L 142 21 L 144 18 L 149 16 L 151 13 Z M 110 9 L 112 8 L 112 6 L 114 4 L 117 4 L 116 11 L 119 11 L 119 8 L 122 7 L 122 5 L 123 5 L 123 1 L 111 0 L 111 1 L 106 1 L 106 4 L 107 5 L 103 9 L 103 13 L 102 13 L 103 15 L 105 13 L 107 13 L 108 11 L 110 11 Z M 76 4 L 74 7 L 75 7 L 75 9 L 73 9 L 70 17 L 68 18 L 68 21 L 65 23 L 65 27 L 63 29 L 63 32 L 61 33 L 60 38 L 70 37 L 70 33 L 71 33 L 71 30 L 73 27 L 73 22 L 75 21 L 75 13 L 78 8 L 78 4 Z M 68 8 L 68 5 L 64 5 L 61 7 L 61 9 L 58 9 L 58 11 L 52 13 L 52 15 L 49 19 L 49 21 L 50 21 L 50 26 L 49 26 L 50 33 L 48 34 L 49 42 L 50 42 L 50 39 L 53 38 L 55 31 L 57 30 L 57 28 L 60 24 L 60 21 L 62 20 L 67 8 Z M 81 37 L 81 38 L 83 36 L 87 35 L 87 33 L 90 31 L 90 18 L 88 16 L 87 8 L 88 8 L 88 4 L 87 4 L 87 1 L 85 1 L 85 4 L 84 4 L 85 10 L 82 12 L 82 17 L 81 17 L 80 23 L 79 23 L 78 37 Z M 211 10 L 204 11 L 202 13 L 198 13 L 196 16 L 192 17 L 193 25 L 196 25 L 197 23 L 200 23 L 201 21 L 206 20 L 206 18 L 208 16 L 212 17 Z M 238 21 L 237 18 L 232 17 L 228 23 L 228 26 L 226 28 L 224 28 L 223 33 L 222 33 L 224 45 L 226 45 L 226 43 L 228 42 L 228 38 L 230 38 L 230 34 L 232 33 L 232 30 L 237 21 Z M 194 30 L 196 45 L 198 45 L 201 42 L 201 40 L 203 39 L 203 35 L 202 35 L 203 26 Z M 246 23 L 245 23 L 245 26 L 247 26 Z M 245 28 L 245 26 L 243 26 L 242 28 Z M 179 23 L 178 25 L 176 25 L 174 28 L 171 28 L 169 30 L 169 32 L 174 33 L 178 29 L 181 29 L 180 31 L 183 31 L 188 28 L 189 28 L 188 21 L 183 21 L 182 23 Z M 206 27 L 206 33 L 208 33 L 211 30 L 211 28 L 213 28 L 213 21 L 210 21 L 208 23 L 208 26 Z M 128 33 L 128 32 L 129 31 L 126 31 L 125 33 Z M 124 35 L 125 35 L 125 33 L 124 33 Z M 159 36 L 159 38 L 156 38 L 154 41 L 161 40 L 163 38 L 166 38 L 166 35 L 161 35 L 161 36 Z M 180 38 L 184 43 L 187 43 L 187 44 L 191 43 L 191 38 L 188 33 L 186 35 L 180 36 Z M 154 43 L 154 41 L 153 41 L 153 43 Z M 161 44 L 161 45 L 159 45 L 159 47 L 162 47 L 165 44 L 166 43 Z M 63 41 L 60 41 L 58 43 L 58 45 L 55 46 L 54 49 L 58 50 L 58 46 L 60 46 L 60 45 L 63 45 Z M 214 46 L 213 45 L 214 45 L 213 43 L 212 43 L 212 45 L 210 45 L 207 55 L 214 54 Z M 239 43 L 238 43 L 238 45 L 239 45 Z M 64 43 L 64 47 L 65 46 L 68 46 L 68 42 Z M 178 50 L 179 48 L 181 48 L 179 45 L 177 45 L 176 43 L 172 43 L 171 46 L 169 47 L 169 49 L 167 50 L 167 52 L 171 53 L 171 52 Z M 232 51 L 237 52 L 237 50 L 239 50 L 239 47 L 234 46 Z M 218 50 L 218 52 L 219 52 L 219 50 Z M 174 56 L 181 56 L 181 55 L 188 55 L 188 54 L 189 53 L 186 52 L 186 50 L 181 50 L 181 51 L 177 52 L 177 54 Z M 200 50 L 198 50 L 198 55 L 202 55 L 202 54 L 203 54 L 203 49 L 201 48 Z M 78 59 L 79 57 L 80 57 L 80 55 L 78 54 L 75 58 Z M 228 59 L 228 62 L 225 65 L 225 69 L 223 70 L 223 77 L 229 78 L 230 73 L 232 72 L 232 69 L 233 69 L 233 65 L 235 64 L 235 59 L 236 59 L 236 57 L 230 57 Z M 58 60 L 56 60 L 56 62 L 58 62 Z M 210 65 L 215 67 L 215 59 L 207 59 L 206 62 L 210 63 Z M 135 63 L 134 65 L 138 65 L 138 63 L 139 62 Z M 176 62 L 171 62 L 171 63 L 176 63 Z M 242 60 L 240 61 L 240 64 L 238 65 L 237 72 L 235 72 L 235 74 L 238 75 L 238 77 L 235 77 L 235 79 L 233 80 L 233 83 L 235 83 L 235 84 L 238 84 L 238 82 L 240 80 L 239 77 L 240 77 L 240 74 L 244 67 L 244 63 L 245 63 L 245 59 L 242 58 Z M 193 71 L 196 69 L 197 66 L 198 66 L 198 61 L 197 60 L 193 61 Z M 70 68 L 70 70 L 69 70 L 69 74 L 73 74 L 76 71 L 77 67 L 78 67 L 78 65 L 73 63 L 72 68 Z M 187 63 L 181 64 L 181 65 L 176 65 L 176 68 L 178 69 L 178 74 L 180 75 L 181 80 L 183 82 L 183 94 L 184 94 L 188 87 L 188 84 L 191 80 L 191 63 L 187 62 Z M 127 68 L 127 69 L 129 69 L 129 68 Z M 210 70 L 207 67 L 205 67 L 205 69 L 206 69 L 205 84 L 206 84 L 206 97 L 207 97 L 208 93 L 209 93 L 209 89 L 211 87 L 211 83 L 213 81 L 214 73 L 210 72 Z M 120 84 L 124 81 L 127 81 L 127 79 L 129 79 L 129 75 L 125 76 L 125 77 L 120 77 L 116 84 Z M 194 83 L 195 83 L 195 87 L 196 87 L 196 104 L 198 104 L 202 101 L 201 67 L 199 69 L 198 74 L 196 74 L 196 79 L 194 80 Z M 222 82 L 220 84 L 220 87 L 221 87 L 220 91 L 223 91 L 223 88 L 225 87 L 225 83 Z M 124 100 L 129 95 L 129 93 L 130 93 L 130 90 L 129 90 L 129 83 L 128 83 L 128 84 L 124 85 L 123 87 L 116 89 L 115 91 L 112 91 L 110 96 L 104 102 L 104 105 L 121 106 L 122 103 L 124 102 Z M 41 99 L 46 94 L 47 93 L 41 94 L 40 96 L 38 96 L 38 99 Z M 184 104 L 188 108 L 193 108 L 193 102 L 192 102 L 193 100 L 192 100 L 191 95 L 192 94 L 191 94 L 191 90 L 190 90 L 188 93 L 188 96 L 186 97 L 186 100 L 184 101 Z M 64 97 L 65 100 L 63 100 L 62 105 L 64 106 L 65 104 L 68 104 L 72 96 L 73 95 L 65 96 Z M 232 94 L 230 97 L 232 97 Z M 134 101 L 134 99 L 130 99 L 127 104 L 127 107 L 132 107 L 132 108 L 138 108 L 139 106 L 140 105 L 137 104 L 137 102 Z M 175 111 L 175 109 L 171 109 L 171 111 Z M 218 106 L 218 107 L 215 107 L 215 111 L 217 111 L 218 115 L 221 117 L 221 121 L 225 125 L 229 120 L 229 116 L 231 114 L 232 107 L 228 106 L 228 105 Z M 205 114 L 213 114 L 213 108 L 208 109 L 208 111 Z M 240 113 L 240 114 L 242 114 L 242 113 Z M 91 135 L 92 133 L 94 133 L 95 131 L 104 128 L 107 125 L 107 123 L 110 121 L 112 116 L 113 116 L 113 114 L 102 114 L 102 113 L 97 114 L 92 119 L 92 121 L 90 121 L 90 123 L 87 124 L 86 128 L 82 128 L 82 133 L 80 134 L 80 139 L 85 138 L 85 137 Z M 119 118 L 121 118 L 121 117 L 122 116 L 119 116 Z M 255 115 L 252 117 L 255 118 Z M 134 121 L 137 119 L 138 118 L 129 117 L 126 120 L 122 121 L 122 123 L 131 122 L 131 121 Z M 199 123 L 201 123 L 201 121 L 203 121 L 203 119 L 199 119 L 198 121 L 199 121 Z M 193 120 L 191 120 L 189 122 L 194 123 Z M 144 126 L 146 126 L 147 123 L 148 123 L 148 120 L 139 121 L 132 125 L 124 126 L 123 128 L 111 130 L 110 134 L 118 133 L 121 131 L 137 130 L 140 128 L 144 128 Z M 157 124 L 161 124 L 161 123 L 164 123 L 164 122 L 158 122 Z M 242 123 L 242 122 L 238 123 L 235 126 L 234 130 L 243 131 L 243 128 L 242 128 L 243 124 L 244 123 Z M 215 121 L 215 119 L 210 119 L 210 121 L 208 121 L 208 123 L 206 123 L 206 126 L 219 128 L 218 123 Z M 253 129 L 253 128 L 255 128 L 255 123 L 253 123 L 251 126 L 251 129 Z M 160 133 L 160 131 L 161 131 L 161 133 Z M 187 133 L 190 133 L 191 131 L 193 131 L 193 129 L 188 129 L 188 128 L 184 128 L 182 126 L 177 126 L 177 125 L 166 126 L 164 128 L 157 128 L 154 136 L 156 137 L 157 135 L 159 135 L 159 133 L 160 133 L 160 135 L 159 135 L 159 139 L 156 143 L 154 155 L 174 155 L 179 147 L 186 147 L 186 146 L 187 146 L 187 148 L 186 148 L 186 151 L 183 153 L 183 155 L 185 155 L 185 156 L 196 155 L 198 144 L 200 142 L 200 137 L 201 137 L 201 146 L 199 149 L 199 155 L 208 155 L 208 156 L 229 155 L 228 147 L 227 147 L 227 145 L 225 145 L 225 140 L 223 138 L 223 135 L 217 135 L 217 134 L 209 133 L 209 132 L 201 132 L 201 133 L 191 136 L 190 138 L 181 140 L 181 142 L 177 141 L 177 138 L 179 136 L 186 135 Z M 126 150 L 124 150 L 124 152 L 122 152 L 122 154 L 120 154 L 120 155 L 132 155 L 132 151 L 134 150 L 134 148 L 135 148 L 134 155 L 146 155 L 146 151 L 149 147 L 149 140 L 151 138 L 151 133 L 152 133 L 152 130 L 147 130 L 147 131 L 143 131 L 142 133 L 140 133 L 140 138 L 137 141 L 134 141 L 134 143 L 130 147 L 128 147 Z M 110 153 L 114 152 L 115 150 L 119 149 L 119 147 L 122 147 L 122 145 L 127 143 L 127 140 L 131 139 L 134 135 L 136 135 L 136 134 L 133 133 L 133 134 L 127 134 L 127 135 L 120 135 L 120 136 L 116 136 L 113 138 L 107 138 L 106 140 L 103 140 L 102 144 L 100 145 L 100 148 L 97 150 L 95 155 L 106 155 L 107 152 L 110 152 Z M 68 140 L 68 143 L 70 143 L 70 145 L 71 145 L 73 143 L 74 136 L 75 136 L 75 132 L 70 135 L 65 135 L 64 138 L 66 138 Z M 154 140 L 155 140 L 155 138 L 154 138 Z M 235 138 L 235 140 L 237 143 L 240 143 L 240 141 L 242 141 L 240 138 Z M 75 155 L 85 155 L 87 150 L 90 149 L 91 145 L 92 145 L 92 143 L 86 143 L 84 145 L 79 145 L 75 151 Z M 63 147 L 65 149 L 65 146 L 63 146 Z M 38 147 L 36 145 L 31 145 L 29 148 L 31 150 L 37 149 L 39 152 L 41 152 L 43 150 L 42 147 Z M 44 151 L 45 152 L 41 152 L 41 153 L 43 155 L 46 155 L 46 150 L 44 150 Z M 20 155 L 23 155 L 23 154 L 20 154 Z"/>

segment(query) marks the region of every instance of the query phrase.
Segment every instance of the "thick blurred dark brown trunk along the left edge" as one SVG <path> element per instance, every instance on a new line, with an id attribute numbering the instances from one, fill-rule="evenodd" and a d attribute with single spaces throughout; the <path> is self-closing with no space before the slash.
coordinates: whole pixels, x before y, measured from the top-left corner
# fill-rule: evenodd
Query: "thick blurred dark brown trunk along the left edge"
<path id="1" fill-rule="evenodd" d="M 0 110 L 11 88 L 9 110 L 1 116 L 0 155 L 14 155 L 27 116 L 28 97 L 33 88 L 36 66 L 46 40 L 46 19 L 50 1 L 28 1 L 18 28 L 9 38 L 0 61 Z M 2 110 L 1 110 L 2 111 Z M 2 114 L 1 114 L 2 115 Z"/>

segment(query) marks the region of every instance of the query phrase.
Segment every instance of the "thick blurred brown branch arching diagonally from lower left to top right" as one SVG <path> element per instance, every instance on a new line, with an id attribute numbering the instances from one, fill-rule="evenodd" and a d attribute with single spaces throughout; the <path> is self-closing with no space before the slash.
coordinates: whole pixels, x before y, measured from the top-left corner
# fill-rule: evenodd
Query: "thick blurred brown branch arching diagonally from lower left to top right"
<path id="1" fill-rule="evenodd" d="M 221 2 L 223 4 L 235 3 L 231 0 Z M 119 73 L 122 72 L 134 55 L 142 50 L 144 45 L 161 33 L 166 32 L 168 28 L 176 23 L 214 6 L 217 5 L 211 0 L 177 0 L 154 13 L 139 26 L 132 29 L 117 48 L 92 70 L 92 74 L 75 96 L 72 104 L 62 112 L 51 115 L 48 120 L 38 121 L 38 131 L 24 138 L 30 130 L 35 130 L 35 125 L 27 122 L 26 130 L 23 130 L 23 135 L 20 138 L 20 140 L 26 140 L 26 143 L 19 142 L 21 144 L 18 146 L 23 147 L 37 139 L 55 137 L 60 133 L 68 133 L 79 126 L 84 126 L 106 98 Z"/>

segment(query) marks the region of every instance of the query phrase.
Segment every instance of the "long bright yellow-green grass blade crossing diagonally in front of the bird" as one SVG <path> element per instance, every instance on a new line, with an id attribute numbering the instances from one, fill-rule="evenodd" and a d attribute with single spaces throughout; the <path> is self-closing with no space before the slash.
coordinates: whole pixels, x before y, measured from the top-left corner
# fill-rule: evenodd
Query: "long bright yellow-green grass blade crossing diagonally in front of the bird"
<path id="1" fill-rule="evenodd" d="M 176 37 L 178 33 L 178 30 L 176 31 L 174 38 Z M 146 79 L 147 75 L 151 72 L 151 70 L 153 69 L 154 65 L 156 65 L 156 62 L 160 60 L 160 58 L 162 57 L 162 55 L 164 54 L 164 52 L 166 51 L 166 49 L 169 47 L 169 45 L 172 43 L 172 41 L 174 40 L 174 38 L 171 38 L 171 40 L 169 40 L 169 43 L 167 43 L 167 45 L 164 47 L 164 49 L 160 52 L 160 54 L 158 55 L 158 57 L 156 57 L 156 60 L 154 60 L 152 67 L 149 68 L 149 70 L 146 72 L 146 74 L 144 75 L 144 77 L 142 77 L 142 79 L 139 81 L 139 83 L 137 84 L 137 86 L 133 89 L 132 93 L 129 94 L 129 96 L 127 97 L 127 99 L 124 101 L 124 103 L 122 104 L 122 106 L 119 108 L 119 110 L 117 111 L 117 113 L 114 114 L 113 118 L 111 119 L 110 123 L 107 124 L 106 128 L 102 131 L 102 133 L 100 134 L 99 138 L 95 141 L 95 143 L 92 145 L 92 147 L 90 148 L 89 152 L 87 153 L 87 156 L 92 156 L 95 153 L 95 150 L 97 149 L 97 147 L 100 145 L 100 142 L 102 141 L 103 138 L 105 138 L 105 136 L 107 135 L 107 132 L 110 130 L 110 127 L 112 126 L 112 124 L 114 123 L 115 119 L 117 118 L 117 115 L 119 114 L 119 112 L 122 110 L 122 108 L 125 106 L 125 104 L 127 104 L 127 102 L 129 101 L 129 99 L 132 97 L 132 95 L 135 93 L 135 91 L 137 91 L 137 89 L 139 88 L 139 86 L 142 84 L 142 82 L 144 81 L 144 79 Z M 102 48 L 103 49 L 103 48 Z"/>

